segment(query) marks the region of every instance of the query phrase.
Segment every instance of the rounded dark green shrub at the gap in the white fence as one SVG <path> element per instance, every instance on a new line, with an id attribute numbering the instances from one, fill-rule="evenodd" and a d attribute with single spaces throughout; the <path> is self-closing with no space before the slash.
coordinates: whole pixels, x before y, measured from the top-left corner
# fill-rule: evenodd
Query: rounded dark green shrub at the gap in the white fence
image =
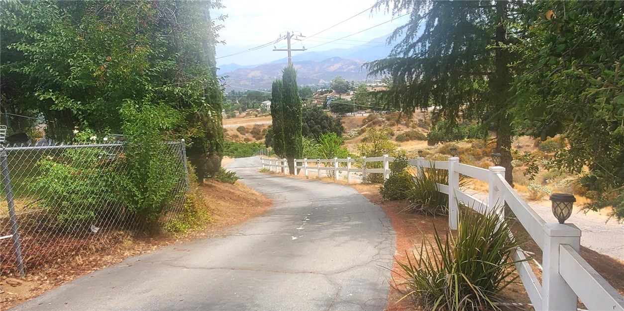
<path id="1" fill-rule="evenodd" d="M 413 186 L 412 176 L 407 172 L 409 160 L 404 155 L 396 156 L 391 164 L 391 172 L 379 193 L 386 200 L 408 199 L 409 189 Z"/>

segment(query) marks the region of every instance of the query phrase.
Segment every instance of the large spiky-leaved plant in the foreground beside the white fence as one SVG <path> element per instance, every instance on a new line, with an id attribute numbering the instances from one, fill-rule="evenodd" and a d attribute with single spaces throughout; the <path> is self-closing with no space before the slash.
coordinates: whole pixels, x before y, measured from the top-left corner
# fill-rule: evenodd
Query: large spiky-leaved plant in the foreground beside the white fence
<path id="1" fill-rule="evenodd" d="M 434 242 L 423 239 L 407 262 L 398 262 L 406 291 L 427 310 L 498 310 L 497 295 L 517 276 L 511 252 L 518 242 L 509 234 L 507 222 L 495 213 L 462 213 L 456 236 L 446 239 L 434 227 Z M 403 290 L 403 289 L 400 289 Z"/>

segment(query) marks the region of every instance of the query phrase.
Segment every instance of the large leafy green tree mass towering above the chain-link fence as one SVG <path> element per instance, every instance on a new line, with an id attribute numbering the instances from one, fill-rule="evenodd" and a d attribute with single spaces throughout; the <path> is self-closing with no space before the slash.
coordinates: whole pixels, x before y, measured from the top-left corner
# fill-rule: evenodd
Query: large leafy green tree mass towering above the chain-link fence
<path id="1" fill-rule="evenodd" d="M 42 115 L 46 135 L 61 141 L 71 140 L 76 126 L 123 133 L 124 102 L 165 103 L 185 120 L 168 133 L 187 140 L 201 179 L 207 165 L 220 165 L 223 148 L 222 87 L 214 70 L 220 26 L 209 14 L 217 7 L 218 1 L 3 2 L 0 70 L 23 83 L 2 87 L 2 100 Z"/>

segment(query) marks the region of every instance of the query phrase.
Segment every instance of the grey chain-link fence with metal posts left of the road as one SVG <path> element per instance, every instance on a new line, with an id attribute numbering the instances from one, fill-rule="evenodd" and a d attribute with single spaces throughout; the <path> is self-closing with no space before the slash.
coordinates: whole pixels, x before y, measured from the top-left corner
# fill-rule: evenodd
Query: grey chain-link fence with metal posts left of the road
<path id="1" fill-rule="evenodd" d="M 155 186 L 165 188 L 159 224 L 181 213 L 188 189 L 184 141 L 163 144 L 156 156 L 162 176 L 152 176 L 160 182 Z M 127 204 L 141 193 L 129 191 L 137 178 L 128 177 L 126 149 L 123 143 L 3 146 L 0 274 L 24 275 L 146 230 Z"/>

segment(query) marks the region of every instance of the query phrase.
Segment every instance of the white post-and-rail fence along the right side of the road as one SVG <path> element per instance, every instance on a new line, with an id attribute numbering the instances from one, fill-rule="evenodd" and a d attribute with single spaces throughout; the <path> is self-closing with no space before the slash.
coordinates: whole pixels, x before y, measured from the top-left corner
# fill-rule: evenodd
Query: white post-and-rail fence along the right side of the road
<path id="1" fill-rule="evenodd" d="M 388 155 L 361 159 L 303 159 L 295 160 L 297 173 L 303 171 L 308 176 L 309 171 L 316 171 L 321 177 L 321 171 L 329 172 L 338 180 L 342 172 L 350 183 L 354 174 L 366 181 L 369 173 L 383 173 L 384 179 L 390 174 L 389 163 L 394 158 Z M 262 168 L 272 171 L 283 171 L 288 174 L 286 159 L 262 158 Z M 382 168 L 367 168 L 367 163 L 382 162 Z M 323 163 L 323 165 L 321 165 Z M 344 163 L 344 164 L 343 164 Z M 353 163 L 361 163 L 361 168 L 352 167 Z M 502 208 L 506 203 L 515 217 L 524 226 L 535 244 L 542 249 L 542 282 L 535 275 L 534 270 L 526 259 L 522 249 L 515 250 L 512 257 L 516 270 L 529 295 L 535 310 L 576 311 L 577 300 L 585 304 L 589 310 L 619 310 L 624 311 L 624 297 L 608 284 L 579 254 L 581 231 L 574 224 L 548 223 L 530 208 L 519 194 L 505 180 L 505 168 L 492 166 L 489 169 L 459 163 L 459 158 L 452 157 L 448 161 L 426 161 L 424 158 L 409 160 L 409 164 L 416 166 L 418 174 L 424 168 L 449 171 L 449 184 L 437 184 L 438 191 L 449 195 L 449 227 L 457 229 L 459 216 L 458 203 L 469 206 L 475 211 L 484 214 L 492 209 L 504 216 Z M 479 179 L 489 184 L 487 202 L 483 202 L 459 189 L 459 174 L 469 178 Z M 330 174 L 327 174 L 330 176 Z"/>

